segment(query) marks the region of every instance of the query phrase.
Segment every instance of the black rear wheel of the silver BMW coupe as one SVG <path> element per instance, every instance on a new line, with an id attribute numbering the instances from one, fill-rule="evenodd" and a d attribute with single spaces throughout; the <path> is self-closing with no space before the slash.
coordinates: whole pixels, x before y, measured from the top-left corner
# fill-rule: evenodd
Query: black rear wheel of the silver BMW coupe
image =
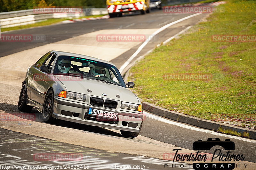
<path id="1" fill-rule="evenodd" d="M 28 95 L 27 95 L 27 86 L 26 83 L 24 83 L 22 85 L 22 88 L 20 90 L 20 97 L 19 97 L 19 102 L 18 102 L 18 109 L 22 112 L 27 112 L 30 113 L 31 110 L 33 109 L 32 106 L 28 106 L 26 104 L 28 99 Z"/>

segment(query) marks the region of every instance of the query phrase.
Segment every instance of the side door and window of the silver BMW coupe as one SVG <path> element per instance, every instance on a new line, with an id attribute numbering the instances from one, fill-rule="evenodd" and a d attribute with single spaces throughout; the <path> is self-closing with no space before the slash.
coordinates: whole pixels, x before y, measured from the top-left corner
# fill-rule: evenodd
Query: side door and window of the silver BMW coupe
<path id="1" fill-rule="evenodd" d="M 43 105 L 44 103 L 44 84 L 48 79 L 48 73 L 45 73 L 39 70 L 40 66 L 45 65 L 47 61 L 51 60 L 53 56 L 56 56 L 53 53 L 49 53 L 49 55 L 45 55 L 35 64 L 32 70 L 32 74 L 34 75 L 32 79 L 31 85 L 31 99 Z M 55 57 L 54 57 L 55 58 Z M 47 65 L 46 65 L 47 66 Z"/>

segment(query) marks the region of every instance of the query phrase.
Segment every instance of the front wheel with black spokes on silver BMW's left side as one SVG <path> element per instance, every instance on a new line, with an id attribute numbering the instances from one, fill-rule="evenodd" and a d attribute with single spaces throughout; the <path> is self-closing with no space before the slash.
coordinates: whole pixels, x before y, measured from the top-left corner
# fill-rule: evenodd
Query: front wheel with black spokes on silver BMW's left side
<path id="1" fill-rule="evenodd" d="M 53 100 L 54 100 L 54 93 L 53 93 L 53 90 L 50 90 L 49 92 L 47 92 L 44 99 L 44 105 L 43 105 L 43 111 L 42 111 L 42 117 L 44 122 L 54 121 L 54 118 L 52 117 Z"/>

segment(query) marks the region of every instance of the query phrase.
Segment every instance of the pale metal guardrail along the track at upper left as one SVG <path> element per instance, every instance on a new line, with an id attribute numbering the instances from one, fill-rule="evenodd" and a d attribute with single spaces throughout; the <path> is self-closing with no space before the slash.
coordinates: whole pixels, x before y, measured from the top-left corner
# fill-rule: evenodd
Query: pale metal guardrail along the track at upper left
<path id="1" fill-rule="evenodd" d="M 53 8 L 48 8 L 50 11 Z M 77 11 L 79 8 L 68 8 Z M 79 9 L 80 12 L 61 12 L 61 13 L 43 13 L 36 11 L 36 9 L 0 12 L 0 26 L 8 28 L 13 26 L 21 26 L 27 24 L 34 24 L 50 18 L 79 18 L 88 15 L 104 15 L 108 14 L 106 8 L 84 8 Z"/>

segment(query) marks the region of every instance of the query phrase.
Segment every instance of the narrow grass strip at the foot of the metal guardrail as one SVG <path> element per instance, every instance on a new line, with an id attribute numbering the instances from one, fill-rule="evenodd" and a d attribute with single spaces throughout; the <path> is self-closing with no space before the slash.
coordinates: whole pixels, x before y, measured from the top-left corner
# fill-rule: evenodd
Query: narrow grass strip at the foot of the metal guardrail
<path id="1" fill-rule="evenodd" d="M 104 15 L 91 15 L 91 16 L 79 17 L 78 19 L 90 18 L 90 17 L 96 18 L 96 17 L 102 17 L 102 16 L 104 16 Z M 24 29 L 24 28 L 31 28 L 31 27 L 36 27 L 36 26 L 47 26 L 47 25 L 56 24 L 56 23 L 59 23 L 61 21 L 65 21 L 68 19 L 69 18 L 52 18 L 52 19 L 47 19 L 46 21 L 37 22 L 35 24 L 28 24 L 28 25 L 24 25 L 24 26 L 14 26 L 14 27 L 9 27 L 9 28 L 1 28 L 1 32 Z M 73 18 L 73 19 L 75 19 L 75 18 Z"/>

